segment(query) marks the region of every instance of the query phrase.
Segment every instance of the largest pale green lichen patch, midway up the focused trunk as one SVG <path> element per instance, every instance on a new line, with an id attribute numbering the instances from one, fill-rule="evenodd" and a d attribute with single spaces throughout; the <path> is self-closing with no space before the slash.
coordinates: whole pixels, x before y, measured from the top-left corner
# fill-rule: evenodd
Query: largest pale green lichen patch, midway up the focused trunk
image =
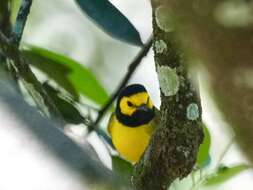
<path id="1" fill-rule="evenodd" d="M 161 91 L 164 93 L 164 95 L 173 96 L 177 94 L 180 82 L 176 69 L 172 69 L 168 66 L 158 65 L 157 73 Z"/>

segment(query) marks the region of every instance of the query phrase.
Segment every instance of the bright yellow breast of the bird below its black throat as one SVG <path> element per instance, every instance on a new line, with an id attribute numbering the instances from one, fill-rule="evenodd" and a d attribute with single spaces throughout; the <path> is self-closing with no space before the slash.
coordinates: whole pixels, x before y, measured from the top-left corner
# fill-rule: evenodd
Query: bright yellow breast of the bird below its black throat
<path id="1" fill-rule="evenodd" d="M 122 157 L 132 163 L 140 159 L 148 146 L 153 130 L 152 122 L 138 127 L 127 127 L 121 124 L 115 116 L 112 116 L 108 126 L 115 148 Z"/>

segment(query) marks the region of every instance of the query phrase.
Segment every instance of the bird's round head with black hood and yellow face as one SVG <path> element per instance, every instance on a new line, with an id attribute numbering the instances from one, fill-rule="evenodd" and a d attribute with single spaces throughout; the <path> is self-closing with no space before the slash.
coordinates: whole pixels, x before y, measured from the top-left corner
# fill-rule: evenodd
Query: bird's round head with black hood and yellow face
<path id="1" fill-rule="evenodd" d="M 116 106 L 119 122 L 129 127 L 138 127 L 149 123 L 154 116 L 154 105 L 144 86 L 132 84 L 120 92 Z"/>

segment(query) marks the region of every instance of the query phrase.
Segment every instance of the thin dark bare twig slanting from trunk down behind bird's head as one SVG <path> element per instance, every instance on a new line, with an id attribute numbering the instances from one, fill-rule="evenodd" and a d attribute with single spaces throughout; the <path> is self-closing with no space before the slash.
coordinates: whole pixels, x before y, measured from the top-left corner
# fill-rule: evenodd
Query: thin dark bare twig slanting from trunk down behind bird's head
<path id="1" fill-rule="evenodd" d="M 132 74 L 134 73 L 137 66 L 141 63 L 143 57 L 147 55 L 149 52 L 151 46 L 152 46 L 153 37 L 150 37 L 148 42 L 143 46 L 141 51 L 138 53 L 138 55 L 135 57 L 133 62 L 129 65 L 128 71 L 125 75 L 125 77 L 122 79 L 121 83 L 119 84 L 118 88 L 115 90 L 115 92 L 111 95 L 110 99 L 107 101 L 107 103 L 102 107 L 102 109 L 98 112 L 98 117 L 96 121 L 94 122 L 93 127 L 95 128 L 96 125 L 100 122 L 100 120 L 103 118 L 106 111 L 111 107 L 114 100 L 117 98 L 118 94 L 120 93 L 121 89 L 126 86 L 129 79 L 131 78 Z"/>

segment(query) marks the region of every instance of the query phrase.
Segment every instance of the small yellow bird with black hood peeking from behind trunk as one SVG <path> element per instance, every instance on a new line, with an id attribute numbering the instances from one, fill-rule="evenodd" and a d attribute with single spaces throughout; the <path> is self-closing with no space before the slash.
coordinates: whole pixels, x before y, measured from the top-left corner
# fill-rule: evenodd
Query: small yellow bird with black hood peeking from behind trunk
<path id="1" fill-rule="evenodd" d="M 129 162 L 139 161 L 156 127 L 155 107 L 140 84 L 124 88 L 118 97 L 108 132 L 119 154 Z"/>

